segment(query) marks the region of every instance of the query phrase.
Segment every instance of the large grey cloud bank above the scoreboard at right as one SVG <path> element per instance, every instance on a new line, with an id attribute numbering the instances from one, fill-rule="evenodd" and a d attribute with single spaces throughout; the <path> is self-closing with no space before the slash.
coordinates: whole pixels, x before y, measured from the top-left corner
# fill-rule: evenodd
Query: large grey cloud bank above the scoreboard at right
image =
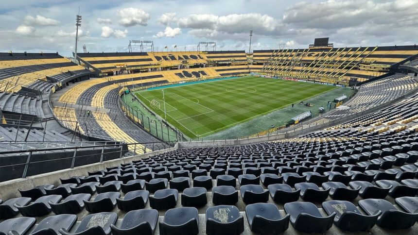
<path id="1" fill-rule="evenodd" d="M 341 46 L 369 41 L 396 44 L 418 37 L 418 31 L 411 30 L 418 24 L 417 8 L 417 0 L 301 2 L 286 9 L 282 23 L 293 30 L 298 44 L 312 43 L 318 36 L 330 36 Z"/>

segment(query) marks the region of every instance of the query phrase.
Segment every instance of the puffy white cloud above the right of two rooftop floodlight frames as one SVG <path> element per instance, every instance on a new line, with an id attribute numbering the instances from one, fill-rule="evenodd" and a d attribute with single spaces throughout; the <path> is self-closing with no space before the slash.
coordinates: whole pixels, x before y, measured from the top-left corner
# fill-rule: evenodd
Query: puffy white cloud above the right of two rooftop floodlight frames
<path id="1" fill-rule="evenodd" d="M 178 26 L 192 29 L 214 29 L 218 22 L 218 18 L 218 16 L 209 14 L 193 14 L 188 17 L 180 18 L 178 20 Z"/>

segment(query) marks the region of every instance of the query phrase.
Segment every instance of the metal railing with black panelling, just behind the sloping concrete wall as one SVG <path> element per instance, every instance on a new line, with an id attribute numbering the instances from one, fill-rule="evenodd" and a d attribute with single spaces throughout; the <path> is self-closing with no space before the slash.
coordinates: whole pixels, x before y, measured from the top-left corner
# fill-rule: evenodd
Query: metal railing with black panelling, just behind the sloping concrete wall
<path id="1" fill-rule="evenodd" d="M 70 169 L 134 155 L 135 152 L 173 148 L 176 141 L 149 143 L 83 142 L 79 146 L 16 149 L 0 151 L 0 182 Z M 29 143 L 26 143 L 29 147 Z M 49 143 L 51 146 L 53 143 Z M 61 143 L 62 144 L 62 143 Z M 20 162 L 20 163 L 15 163 Z M 3 172 L 3 173 L 1 173 Z"/>

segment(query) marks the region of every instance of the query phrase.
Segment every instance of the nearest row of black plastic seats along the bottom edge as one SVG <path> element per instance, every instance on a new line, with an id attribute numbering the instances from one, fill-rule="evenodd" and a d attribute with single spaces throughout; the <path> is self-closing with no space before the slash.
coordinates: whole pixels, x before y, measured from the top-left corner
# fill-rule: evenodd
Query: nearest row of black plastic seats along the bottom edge
<path id="1" fill-rule="evenodd" d="M 255 203 L 247 205 L 245 216 L 249 228 L 257 234 L 278 234 L 291 225 L 299 232 L 324 233 L 332 224 L 344 231 L 367 231 L 375 224 L 387 229 L 406 229 L 418 219 L 418 198 L 403 197 L 396 203 L 406 212 L 398 210 L 390 202 L 380 199 L 359 201 L 360 210 L 349 201 L 325 201 L 322 208 L 328 216 L 323 216 L 311 202 L 289 202 L 284 205 L 283 217 L 276 205 Z M 118 215 L 102 212 L 87 215 L 73 233 L 69 232 L 77 221 L 75 215 L 56 215 L 44 218 L 31 231 L 31 235 L 153 235 L 156 231 L 158 212 L 155 209 L 139 209 L 128 212 L 119 227 L 115 226 Z M 25 235 L 35 225 L 35 218 L 20 217 L 0 223 L 0 234 Z M 100 222 L 99 222 L 100 221 Z M 180 207 L 167 210 L 159 225 L 159 234 L 177 235 L 199 234 L 199 214 L 194 207 Z M 95 224 L 95 226 L 92 226 Z M 238 235 L 244 232 L 244 217 L 233 205 L 218 205 L 206 210 L 206 234 Z"/>

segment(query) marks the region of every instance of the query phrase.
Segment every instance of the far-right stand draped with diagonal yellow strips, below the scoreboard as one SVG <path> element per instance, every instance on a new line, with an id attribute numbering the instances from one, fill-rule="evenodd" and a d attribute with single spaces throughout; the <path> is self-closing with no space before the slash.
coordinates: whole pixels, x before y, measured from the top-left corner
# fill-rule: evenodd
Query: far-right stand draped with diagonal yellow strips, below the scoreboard
<path id="1" fill-rule="evenodd" d="M 384 75 L 418 54 L 416 46 L 254 50 L 262 73 L 348 84 Z"/>

